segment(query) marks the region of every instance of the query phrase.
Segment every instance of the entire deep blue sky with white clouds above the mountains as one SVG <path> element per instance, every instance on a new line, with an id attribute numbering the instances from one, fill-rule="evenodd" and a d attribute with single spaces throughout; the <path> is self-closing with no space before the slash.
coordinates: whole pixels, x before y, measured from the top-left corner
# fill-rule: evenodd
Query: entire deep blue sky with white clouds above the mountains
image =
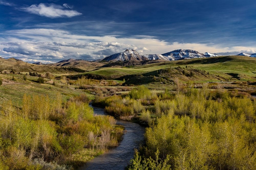
<path id="1" fill-rule="evenodd" d="M 0 56 L 99 60 L 126 49 L 256 53 L 255 0 L 0 0 Z"/>

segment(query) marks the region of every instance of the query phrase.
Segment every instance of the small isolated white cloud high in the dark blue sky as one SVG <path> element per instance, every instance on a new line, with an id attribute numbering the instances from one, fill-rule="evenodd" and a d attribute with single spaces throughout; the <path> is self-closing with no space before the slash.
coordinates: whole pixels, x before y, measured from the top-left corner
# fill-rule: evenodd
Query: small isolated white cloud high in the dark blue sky
<path id="1" fill-rule="evenodd" d="M 63 4 L 63 6 L 56 5 L 56 4 L 46 4 L 46 3 L 40 3 L 39 5 L 33 4 L 28 7 L 22 7 L 20 10 L 29 12 L 31 14 L 37 14 L 40 16 L 45 16 L 49 18 L 59 18 L 59 17 L 74 17 L 77 15 L 82 15 L 82 13 L 79 13 L 74 10 L 65 10 L 65 7 L 70 8 L 70 5 Z"/>

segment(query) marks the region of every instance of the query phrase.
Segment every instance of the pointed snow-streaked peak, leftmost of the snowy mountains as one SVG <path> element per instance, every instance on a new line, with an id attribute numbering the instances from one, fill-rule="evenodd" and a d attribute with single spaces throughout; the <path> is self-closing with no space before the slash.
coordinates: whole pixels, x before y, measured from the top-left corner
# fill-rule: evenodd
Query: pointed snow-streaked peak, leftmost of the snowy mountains
<path id="1" fill-rule="evenodd" d="M 135 50 L 125 50 L 122 53 L 116 53 L 113 55 L 110 55 L 108 57 L 105 57 L 102 59 L 102 61 L 127 61 L 127 60 L 137 60 L 142 61 L 142 56 Z"/>

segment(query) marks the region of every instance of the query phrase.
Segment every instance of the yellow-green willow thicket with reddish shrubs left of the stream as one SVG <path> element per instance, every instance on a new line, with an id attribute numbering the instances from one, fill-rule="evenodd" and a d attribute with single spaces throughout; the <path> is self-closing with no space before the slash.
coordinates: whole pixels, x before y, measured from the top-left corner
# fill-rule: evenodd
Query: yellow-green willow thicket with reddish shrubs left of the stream
<path id="1" fill-rule="evenodd" d="M 67 160 L 74 164 L 72 154 L 84 148 L 116 147 L 123 130 L 115 128 L 113 117 L 94 117 L 84 99 L 64 103 L 60 95 L 55 101 L 24 95 L 21 109 L 5 102 L 0 110 L 0 169 L 41 169 Z"/>

